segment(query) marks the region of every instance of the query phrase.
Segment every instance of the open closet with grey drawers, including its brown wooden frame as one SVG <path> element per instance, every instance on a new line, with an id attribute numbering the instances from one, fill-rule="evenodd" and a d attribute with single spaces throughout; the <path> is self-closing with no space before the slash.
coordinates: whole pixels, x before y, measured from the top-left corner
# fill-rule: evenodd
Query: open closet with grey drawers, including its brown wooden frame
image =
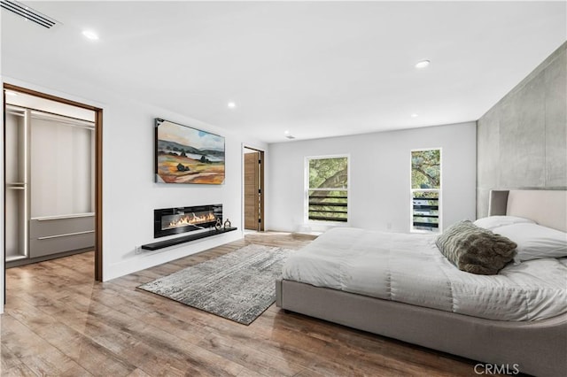
<path id="1" fill-rule="evenodd" d="M 102 109 L 4 84 L 5 268 L 93 250 L 102 281 Z"/>

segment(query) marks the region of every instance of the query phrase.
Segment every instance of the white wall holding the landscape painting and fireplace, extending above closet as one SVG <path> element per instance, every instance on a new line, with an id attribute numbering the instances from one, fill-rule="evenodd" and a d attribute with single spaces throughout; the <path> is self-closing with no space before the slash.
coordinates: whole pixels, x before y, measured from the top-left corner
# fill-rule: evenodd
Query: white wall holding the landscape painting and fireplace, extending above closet
<path id="1" fill-rule="evenodd" d="M 169 112 L 151 104 L 130 101 L 116 94 L 120 88 L 116 88 L 113 92 L 113 88 L 96 88 L 79 81 L 67 80 L 64 74 L 60 73 L 42 73 L 41 69 L 37 69 L 37 72 L 27 70 L 20 72 L 17 65 L 11 67 L 11 75 L 4 74 L 2 83 L 7 82 L 103 108 L 103 277 L 105 281 L 235 241 L 243 236 L 241 231 L 242 144 L 267 149 L 266 143 L 191 119 L 187 114 Z M 154 183 L 153 138 L 156 117 L 225 136 L 225 183 L 218 186 Z M 0 163 L 0 166 L 2 165 L 4 162 Z M 137 250 L 140 245 L 155 241 L 154 209 L 216 203 L 224 205 L 225 218 L 229 218 L 232 225 L 238 227 L 236 232 L 159 251 L 140 253 Z M 4 203 L 0 205 L 3 206 Z M 159 238 L 159 241 L 167 238 L 171 237 Z"/>

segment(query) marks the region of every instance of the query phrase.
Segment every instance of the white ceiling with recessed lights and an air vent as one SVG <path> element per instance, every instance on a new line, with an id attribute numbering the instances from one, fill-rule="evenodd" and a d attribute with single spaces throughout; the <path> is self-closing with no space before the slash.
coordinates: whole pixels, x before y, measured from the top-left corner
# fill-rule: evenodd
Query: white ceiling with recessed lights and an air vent
<path id="1" fill-rule="evenodd" d="M 31 59 L 266 142 L 476 120 L 567 39 L 564 1 L 24 3 L 62 25 L 3 10 L 5 75 Z"/>

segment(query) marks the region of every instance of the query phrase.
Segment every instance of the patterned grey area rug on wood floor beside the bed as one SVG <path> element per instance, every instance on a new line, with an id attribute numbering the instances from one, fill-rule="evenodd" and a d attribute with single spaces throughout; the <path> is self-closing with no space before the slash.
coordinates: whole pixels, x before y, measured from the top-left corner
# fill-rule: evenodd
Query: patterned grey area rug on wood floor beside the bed
<path id="1" fill-rule="evenodd" d="M 276 301 L 276 278 L 291 252 L 251 244 L 138 288 L 250 325 Z"/>

